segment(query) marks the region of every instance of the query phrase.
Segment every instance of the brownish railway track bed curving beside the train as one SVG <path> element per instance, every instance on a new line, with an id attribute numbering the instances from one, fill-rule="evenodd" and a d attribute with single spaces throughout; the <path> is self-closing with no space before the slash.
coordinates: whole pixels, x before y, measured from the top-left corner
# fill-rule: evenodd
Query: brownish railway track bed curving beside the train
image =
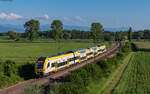
<path id="1" fill-rule="evenodd" d="M 120 51 L 122 46 L 123 46 L 122 43 L 116 43 L 115 46 L 113 46 L 112 48 L 108 49 L 105 53 L 103 53 L 103 54 L 101 54 L 95 58 L 84 61 L 84 62 L 77 64 L 77 65 L 73 65 L 73 66 L 71 66 L 65 70 L 61 70 L 61 71 L 58 71 L 56 73 L 52 73 L 51 75 L 49 75 L 47 77 L 43 77 L 43 78 L 39 78 L 39 79 L 31 79 L 31 80 L 27 80 L 24 82 L 20 82 L 14 86 L 10 86 L 8 88 L 0 90 L 0 94 L 20 94 L 21 91 L 25 87 L 27 87 L 31 84 L 36 84 L 36 83 L 39 83 L 39 84 L 46 86 L 50 83 L 53 83 L 57 79 L 61 79 L 62 77 L 67 75 L 68 72 L 76 70 L 80 67 L 83 67 L 84 65 L 86 65 L 88 63 L 94 63 L 94 62 L 99 61 L 100 59 L 106 59 L 106 58 L 110 58 L 110 57 L 114 56 L 117 52 Z"/>

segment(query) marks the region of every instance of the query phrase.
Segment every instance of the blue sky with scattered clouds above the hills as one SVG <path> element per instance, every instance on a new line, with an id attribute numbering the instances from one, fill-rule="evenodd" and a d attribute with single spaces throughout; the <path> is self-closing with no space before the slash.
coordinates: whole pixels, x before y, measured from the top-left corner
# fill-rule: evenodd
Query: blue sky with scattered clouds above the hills
<path id="1" fill-rule="evenodd" d="M 64 25 L 150 29 L 150 0 L 0 0 L 0 24 L 41 25 L 59 19 Z"/>

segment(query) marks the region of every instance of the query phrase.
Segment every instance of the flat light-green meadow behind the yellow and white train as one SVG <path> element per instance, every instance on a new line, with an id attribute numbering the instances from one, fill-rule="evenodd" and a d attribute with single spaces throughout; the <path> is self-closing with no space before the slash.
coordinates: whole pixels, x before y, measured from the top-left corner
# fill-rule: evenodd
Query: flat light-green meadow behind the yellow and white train
<path id="1" fill-rule="evenodd" d="M 110 46 L 109 43 L 105 43 Z M 17 63 L 35 62 L 38 57 L 55 55 L 73 49 L 93 46 L 87 42 L 63 42 L 58 50 L 58 44 L 51 43 L 0 43 L 0 59 L 13 60 Z"/>

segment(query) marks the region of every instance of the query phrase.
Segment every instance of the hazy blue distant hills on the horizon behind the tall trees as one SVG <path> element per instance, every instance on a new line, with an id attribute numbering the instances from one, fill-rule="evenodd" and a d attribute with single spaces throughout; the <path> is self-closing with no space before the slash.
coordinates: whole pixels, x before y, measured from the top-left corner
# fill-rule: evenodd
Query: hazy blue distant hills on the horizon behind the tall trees
<path id="1" fill-rule="evenodd" d="M 90 27 L 88 26 L 69 26 L 69 25 L 64 25 L 64 29 L 72 30 L 72 29 L 77 29 L 77 30 L 84 30 L 84 31 L 90 31 Z M 40 30 L 49 30 L 50 25 L 41 25 Z M 11 24 L 0 24 L 0 32 L 8 32 L 8 30 L 15 30 L 16 32 L 24 32 L 24 27 L 23 25 L 11 25 Z M 104 28 L 105 31 L 121 31 L 121 30 L 128 30 L 126 27 L 121 27 L 121 28 Z"/>

